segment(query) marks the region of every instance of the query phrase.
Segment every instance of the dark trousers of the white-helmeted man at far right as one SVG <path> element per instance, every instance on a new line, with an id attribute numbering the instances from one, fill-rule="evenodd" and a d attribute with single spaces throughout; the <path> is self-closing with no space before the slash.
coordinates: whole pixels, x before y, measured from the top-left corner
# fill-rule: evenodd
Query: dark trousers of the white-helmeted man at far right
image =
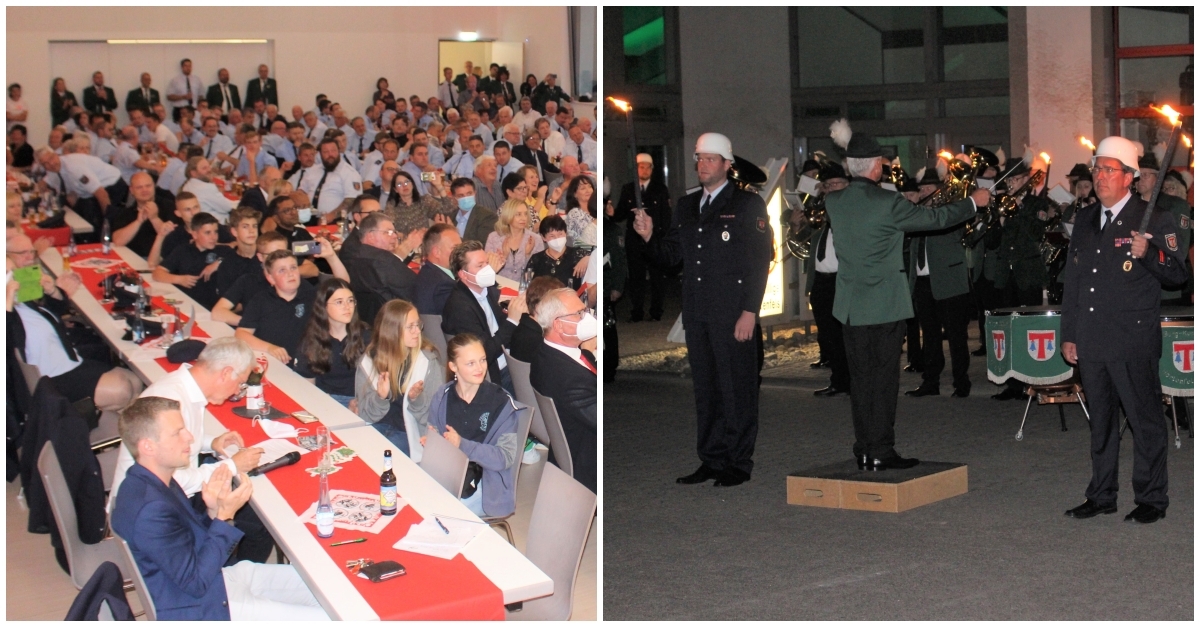
<path id="1" fill-rule="evenodd" d="M 1092 413 L 1092 480 L 1087 498 L 1117 502 L 1121 413 L 1133 434 L 1133 501 L 1166 509 L 1166 423 L 1163 420 L 1158 360 L 1079 362 Z"/>

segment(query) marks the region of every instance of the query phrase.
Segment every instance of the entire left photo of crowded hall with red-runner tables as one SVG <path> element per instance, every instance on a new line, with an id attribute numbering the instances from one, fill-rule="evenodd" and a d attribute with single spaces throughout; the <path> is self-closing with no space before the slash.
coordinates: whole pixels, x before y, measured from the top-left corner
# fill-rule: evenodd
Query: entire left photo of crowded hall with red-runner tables
<path id="1" fill-rule="evenodd" d="M 596 13 L 10 10 L 8 619 L 596 619 Z"/>

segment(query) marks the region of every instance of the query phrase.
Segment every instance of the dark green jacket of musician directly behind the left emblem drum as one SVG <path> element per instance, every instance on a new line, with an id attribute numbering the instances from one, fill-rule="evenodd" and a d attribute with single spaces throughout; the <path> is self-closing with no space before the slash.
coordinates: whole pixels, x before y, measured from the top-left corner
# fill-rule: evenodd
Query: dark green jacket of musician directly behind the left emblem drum
<path id="1" fill-rule="evenodd" d="M 996 259 L 996 287 L 1003 288 L 1008 281 L 1015 281 L 1024 289 L 1044 287 L 1049 274 L 1042 263 L 1042 238 L 1045 237 L 1050 208 L 1045 198 L 1025 197 L 1020 209 L 1013 217 L 1004 219 L 1004 226 L 996 233 L 989 233 L 991 243 L 1000 238 L 1000 250 Z"/>

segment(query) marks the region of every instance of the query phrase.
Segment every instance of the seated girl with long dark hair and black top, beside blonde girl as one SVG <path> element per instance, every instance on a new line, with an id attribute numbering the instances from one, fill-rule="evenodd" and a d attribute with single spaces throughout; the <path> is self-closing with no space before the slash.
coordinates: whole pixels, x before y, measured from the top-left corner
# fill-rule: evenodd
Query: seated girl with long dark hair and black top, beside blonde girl
<path id="1" fill-rule="evenodd" d="M 354 369 L 362 357 L 366 334 L 367 326 L 359 321 L 350 283 L 330 276 L 317 285 L 294 370 L 349 407 L 354 399 Z"/>

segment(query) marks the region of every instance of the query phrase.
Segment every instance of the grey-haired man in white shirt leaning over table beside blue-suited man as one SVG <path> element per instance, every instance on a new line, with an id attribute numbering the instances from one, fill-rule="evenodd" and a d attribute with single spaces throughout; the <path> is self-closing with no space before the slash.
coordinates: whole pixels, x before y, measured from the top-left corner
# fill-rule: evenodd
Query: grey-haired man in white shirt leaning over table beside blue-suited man
<path id="1" fill-rule="evenodd" d="M 240 448 L 245 446 L 245 442 L 236 431 L 226 431 L 221 435 L 204 432 L 204 414 L 208 405 L 210 402 L 223 405 L 229 396 L 236 394 L 250 376 L 253 363 L 254 353 L 241 340 L 234 338 L 216 339 L 204 348 L 196 360 L 196 365 L 184 365 L 142 392 L 142 398 L 160 396 L 178 401 L 179 411 L 184 416 L 184 424 L 196 437 L 196 441 L 192 442 L 187 467 L 179 468 L 174 473 L 175 482 L 187 496 L 199 492 L 212 472 L 221 465 L 227 466 L 234 473 L 247 472 L 258 466 L 263 449 Z M 230 447 L 239 449 L 233 456 L 226 454 L 226 449 Z M 214 453 L 222 459 L 218 464 L 199 465 L 200 453 Z M 125 480 L 130 466 L 133 466 L 133 455 L 130 454 L 128 448 L 121 447 L 120 453 L 116 454 L 116 471 L 113 474 L 113 488 L 108 496 L 109 510 L 116 502 L 116 492 L 121 482 Z"/>

